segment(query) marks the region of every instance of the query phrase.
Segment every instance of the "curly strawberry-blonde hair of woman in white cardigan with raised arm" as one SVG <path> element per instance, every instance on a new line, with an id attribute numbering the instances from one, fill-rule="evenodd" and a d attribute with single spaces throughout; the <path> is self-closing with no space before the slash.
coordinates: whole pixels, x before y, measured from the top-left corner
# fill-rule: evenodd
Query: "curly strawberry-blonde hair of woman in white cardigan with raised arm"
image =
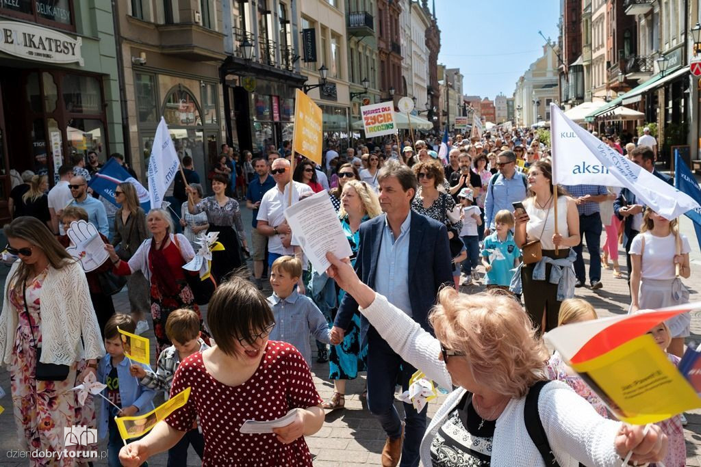
<path id="1" fill-rule="evenodd" d="M 513 298 L 445 287 L 429 321 L 442 344 L 465 354 L 475 380 L 503 396 L 522 398 L 546 379 L 545 345 Z"/>

